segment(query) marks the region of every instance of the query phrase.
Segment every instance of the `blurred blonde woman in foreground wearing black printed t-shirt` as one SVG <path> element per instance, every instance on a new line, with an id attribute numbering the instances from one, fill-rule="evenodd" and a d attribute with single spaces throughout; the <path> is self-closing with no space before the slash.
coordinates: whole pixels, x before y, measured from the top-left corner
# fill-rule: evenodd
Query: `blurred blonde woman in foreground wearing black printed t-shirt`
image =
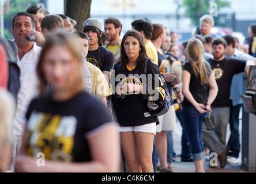
<path id="1" fill-rule="evenodd" d="M 84 90 L 83 64 L 76 35 L 58 32 L 46 41 L 37 65 L 41 95 L 26 114 L 18 172 L 118 171 L 116 125 L 106 106 Z"/>

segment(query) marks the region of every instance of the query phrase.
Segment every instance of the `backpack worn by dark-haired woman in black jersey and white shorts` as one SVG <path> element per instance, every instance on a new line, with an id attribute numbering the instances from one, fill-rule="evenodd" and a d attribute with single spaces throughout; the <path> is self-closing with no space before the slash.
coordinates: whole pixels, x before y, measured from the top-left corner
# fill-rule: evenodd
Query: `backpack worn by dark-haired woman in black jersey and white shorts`
<path id="1" fill-rule="evenodd" d="M 148 59 L 150 60 L 150 59 Z M 144 67 L 144 73 L 148 75 L 148 60 L 146 60 L 145 67 Z M 159 72 L 160 74 L 160 72 Z M 163 89 L 164 89 L 164 101 L 148 101 L 148 108 L 150 109 L 149 114 L 151 116 L 162 116 L 165 113 L 168 112 L 171 106 L 171 97 L 169 94 L 169 90 L 167 87 L 166 82 L 164 81 L 163 76 L 161 75 L 161 81 L 163 82 Z"/>

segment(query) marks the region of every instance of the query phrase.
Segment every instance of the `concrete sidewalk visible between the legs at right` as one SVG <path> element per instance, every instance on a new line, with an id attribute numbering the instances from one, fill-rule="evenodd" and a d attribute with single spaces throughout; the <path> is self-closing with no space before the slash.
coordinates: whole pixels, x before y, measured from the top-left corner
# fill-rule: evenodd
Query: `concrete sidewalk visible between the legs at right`
<path id="1" fill-rule="evenodd" d="M 230 131 L 228 126 L 227 131 L 227 139 L 229 138 Z M 242 135 L 242 123 L 240 123 L 240 135 Z M 181 136 L 182 136 L 182 127 L 180 126 L 179 120 L 176 122 L 176 129 L 172 132 L 173 140 L 174 140 L 174 151 L 176 155 L 181 153 Z M 241 140 L 241 136 L 240 136 Z M 228 140 L 227 140 L 228 141 Z M 206 173 L 250 173 L 248 171 L 243 170 L 240 165 L 242 163 L 241 156 L 239 156 L 240 162 L 238 164 L 228 164 L 225 168 L 210 168 L 209 161 L 206 157 L 204 162 L 205 172 Z M 194 162 L 181 162 L 180 157 L 176 157 L 175 162 L 172 162 L 172 170 L 174 173 L 194 173 L 195 166 Z"/>

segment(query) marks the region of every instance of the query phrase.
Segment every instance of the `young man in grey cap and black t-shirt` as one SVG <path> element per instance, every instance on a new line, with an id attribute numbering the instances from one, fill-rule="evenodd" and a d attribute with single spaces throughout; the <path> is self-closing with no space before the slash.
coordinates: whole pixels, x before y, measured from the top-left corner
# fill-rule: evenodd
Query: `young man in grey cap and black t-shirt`
<path id="1" fill-rule="evenodd" d="M 101 28 L 101 22 L 95 18 L 88 18 L 83 24 L 84 33 L 90 39 L 90 47 L 86 59 L 89 63 L 100 68 L 107 82 L 109 82 L 111 70 L 114 69 L 115 55 L 111 51 L 108 51 L 107 48 L 101 47 L 101 39 L 106 38 L 106 34 Z"/>

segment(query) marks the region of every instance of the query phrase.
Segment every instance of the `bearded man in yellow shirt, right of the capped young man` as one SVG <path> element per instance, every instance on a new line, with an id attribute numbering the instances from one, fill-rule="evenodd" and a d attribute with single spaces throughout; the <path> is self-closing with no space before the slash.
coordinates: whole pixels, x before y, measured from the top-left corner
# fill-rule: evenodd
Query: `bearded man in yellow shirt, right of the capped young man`
<path id="1" fill-rule="evenodd" d="M 118 62 L 120 57 L 120 45 L 121 45 L 121 30 L 122 23 L 115 17 L 108 17 L 105 20 L 105 33 L 107 34 L 108 43 L 104 45 L 115 55 L 115 63 Z"/>

